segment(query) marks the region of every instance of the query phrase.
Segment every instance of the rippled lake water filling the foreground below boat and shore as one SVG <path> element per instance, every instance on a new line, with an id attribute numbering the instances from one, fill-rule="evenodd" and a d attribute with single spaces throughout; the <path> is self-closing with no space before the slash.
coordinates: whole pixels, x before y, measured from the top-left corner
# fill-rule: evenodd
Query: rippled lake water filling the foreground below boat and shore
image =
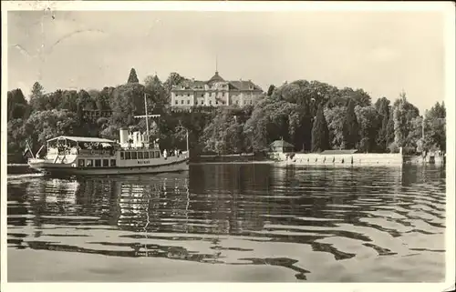
<path id="1" fill-rule="evenodd" d="M 440 166 L 9 175 L 9 281 L 440 282 Z"/>

